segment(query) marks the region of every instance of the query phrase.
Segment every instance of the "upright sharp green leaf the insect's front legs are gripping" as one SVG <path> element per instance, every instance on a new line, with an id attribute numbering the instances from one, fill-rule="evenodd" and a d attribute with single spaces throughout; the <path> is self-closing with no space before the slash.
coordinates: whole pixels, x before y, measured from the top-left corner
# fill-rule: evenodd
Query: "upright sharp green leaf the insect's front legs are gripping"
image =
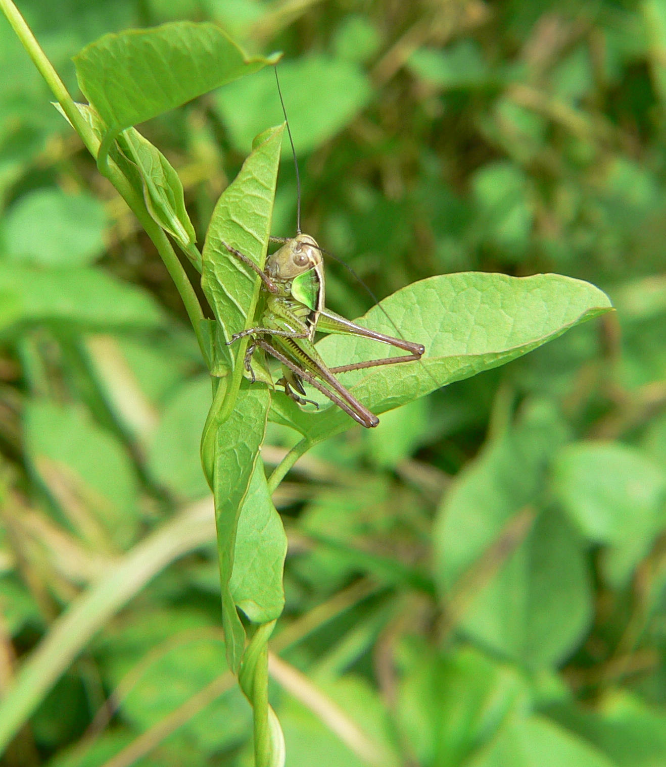
<path id="1" fill-rule="evenodd" d="M 256 138 L 252 154 L 215 206 L 203 245 L 201 287 L 219 323 L 223 335 L 219 351 L 228 366 L 232 364 L 232 352 L 224 346 L 224 341 L 250 326 L 261 281 L 239 258 L 229 253 L 223 242 L 263 268 L 283 130 L 281 125 Z"/>

